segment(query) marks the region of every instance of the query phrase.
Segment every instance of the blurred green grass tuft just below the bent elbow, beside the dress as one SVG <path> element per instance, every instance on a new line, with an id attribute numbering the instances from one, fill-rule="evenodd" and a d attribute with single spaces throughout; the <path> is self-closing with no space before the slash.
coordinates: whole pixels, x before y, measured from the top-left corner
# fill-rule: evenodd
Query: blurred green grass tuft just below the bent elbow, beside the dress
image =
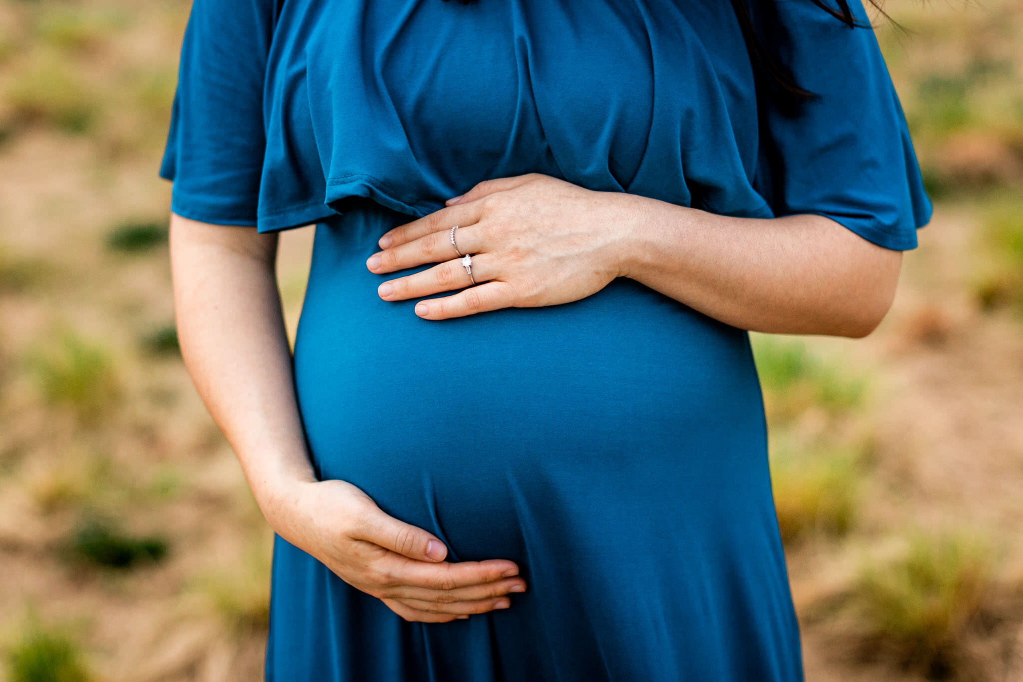
<path id="1" fill-rule="evenodd" d="M 863 403 L 868 381 L 812 355 L 800 339 L 751 334 L 769 418 L 790 420 L 811 407 L 838 415 Z"/>

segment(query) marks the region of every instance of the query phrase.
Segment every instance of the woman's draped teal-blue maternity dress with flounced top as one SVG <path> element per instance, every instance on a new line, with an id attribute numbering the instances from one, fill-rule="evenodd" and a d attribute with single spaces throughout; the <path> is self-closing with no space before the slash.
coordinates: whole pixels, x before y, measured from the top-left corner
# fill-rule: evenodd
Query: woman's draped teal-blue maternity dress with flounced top
<path id="1" fill-rule="evenodd" d="M 757 96 L 721 0 L 194 0 L 161 175 L 187 218 L 316 224 L 294 366 L 318 475 L 528 584 L 408 623 L 277 538 L 268 680 L 802 679 L 746 330 L 626 278 L 429 321 L 365 267 L 531 172 L 914 248 L 931 203 L 873 31 L 774 6 L 820 95 L 798 116 Z"/>

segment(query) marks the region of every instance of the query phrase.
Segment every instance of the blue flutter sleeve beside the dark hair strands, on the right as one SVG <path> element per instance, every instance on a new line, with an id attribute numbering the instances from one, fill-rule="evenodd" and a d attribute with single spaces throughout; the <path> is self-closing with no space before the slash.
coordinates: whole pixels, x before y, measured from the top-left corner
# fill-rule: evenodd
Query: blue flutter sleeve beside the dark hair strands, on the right
<path id="1" fill-rule="evenodd" d="M 751 3 L 758 35 L 776 41 L 796 83 L 819 95 L 792 110 L 758 94 L 754 185 L 775 216 L 818 214 L 886 248 L 915 248 L 931 200 L 863 5 L 848 4 L 862 26 L 810 0 Z"/>

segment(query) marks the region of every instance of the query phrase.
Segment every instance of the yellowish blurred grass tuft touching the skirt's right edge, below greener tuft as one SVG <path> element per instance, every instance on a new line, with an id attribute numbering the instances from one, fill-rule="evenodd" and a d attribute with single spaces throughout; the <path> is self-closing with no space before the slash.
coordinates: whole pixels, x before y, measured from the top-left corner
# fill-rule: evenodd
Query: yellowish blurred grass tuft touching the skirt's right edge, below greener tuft
<path id="1" fill-rule="evenodd" d="M 862 453 L 853 446 L 800 449 L 791 440 L 771 441 L 771 489 L 782 541 L 847 534 L 860 504 Z"/>

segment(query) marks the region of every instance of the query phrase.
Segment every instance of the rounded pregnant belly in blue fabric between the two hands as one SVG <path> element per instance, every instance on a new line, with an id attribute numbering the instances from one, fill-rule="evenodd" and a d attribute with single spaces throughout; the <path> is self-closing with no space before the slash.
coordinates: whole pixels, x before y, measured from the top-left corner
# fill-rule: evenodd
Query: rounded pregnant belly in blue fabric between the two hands
<path id="1" fill-rule="evenodd" d="M 365 268 L 372 211 L 317 226 L 296 381 L 318 473 L 445 540 L 456 560 L 521 558 L 554 514 L 601 533 L 607 505 L 743 514 L 769 495 L 744 330 L 638 282 L 581 301 L 431 321 Z M 392 275 L 393 277 L 393 275 Z"/>

